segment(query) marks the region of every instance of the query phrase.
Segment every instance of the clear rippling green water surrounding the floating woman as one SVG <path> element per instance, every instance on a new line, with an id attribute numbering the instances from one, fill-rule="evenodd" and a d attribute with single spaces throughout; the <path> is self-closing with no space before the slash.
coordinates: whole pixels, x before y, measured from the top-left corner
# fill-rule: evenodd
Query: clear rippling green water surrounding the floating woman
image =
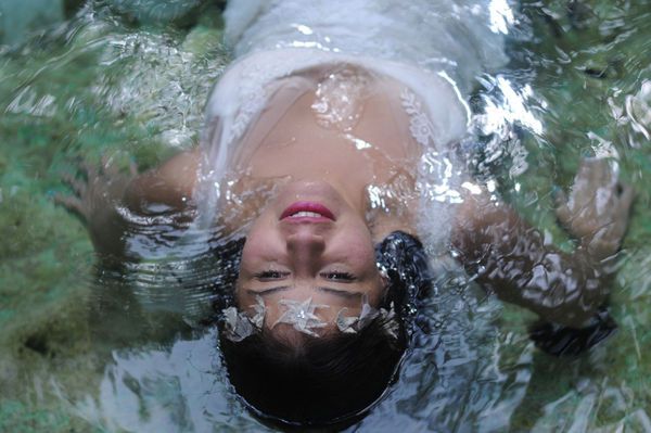
<path id="1" fill-rule="evenodd" d="M 193 145 L 228 64 L 214 2 L 146 16 L 125 4 L 69 5 L 67 21 L 0 49 L 0 431 L 264 430 L 200 323 L 201 254 L 162 250 L 100 272 L 84 227 L 51 201 L 75 158 L 144 169 Z M 651 431 L 651 3 L 514 10 L 512 62 L 472 99 L 476 167 L 567 246 L 552 189 L 580 156 L 617 156 L 637 191 L 612 286 L 618 332 L 552 358 L 529 342 L 529 314 L 449 276 L 419 313 L 398 382 L 352 430 Z"/>

